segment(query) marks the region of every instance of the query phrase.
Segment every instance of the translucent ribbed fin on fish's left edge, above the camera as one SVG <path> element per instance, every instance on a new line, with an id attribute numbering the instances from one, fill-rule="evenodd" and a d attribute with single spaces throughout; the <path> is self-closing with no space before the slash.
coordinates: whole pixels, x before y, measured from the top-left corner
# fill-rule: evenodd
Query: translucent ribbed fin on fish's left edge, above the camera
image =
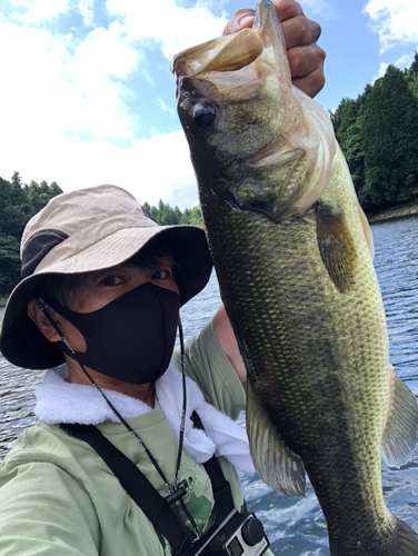
<path id="1" fill-rule="evenodd" d="M 275 490 L 289 496 L 305 496 L 302 460 L 285 446 L 249 383 L 247 395 L 247 431 L 257 473 Z"/>

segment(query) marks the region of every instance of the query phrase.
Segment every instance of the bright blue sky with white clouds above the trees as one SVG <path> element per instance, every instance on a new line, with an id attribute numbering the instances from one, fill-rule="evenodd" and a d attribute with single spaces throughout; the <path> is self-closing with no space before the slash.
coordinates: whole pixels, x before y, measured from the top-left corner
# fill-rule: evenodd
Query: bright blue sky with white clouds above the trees
<path id="1" fill-rule="evenodd" d="M 418 47 L 417 0 L 301 0 L 322 27 L 326 111 Z M 170 60 L 221 33 L 246 0 L 2 0 L 0 176 L 64 191 L 115 183 L 198 202 Z"/>

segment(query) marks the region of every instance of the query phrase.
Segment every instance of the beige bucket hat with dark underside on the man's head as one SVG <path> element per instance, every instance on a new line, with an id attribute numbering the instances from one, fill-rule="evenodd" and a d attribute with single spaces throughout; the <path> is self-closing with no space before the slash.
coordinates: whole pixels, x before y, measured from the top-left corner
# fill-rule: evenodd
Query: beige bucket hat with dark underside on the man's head
<path id="1" fill-rule="evenodd" d="M 22 280 L 9 297 L 0 331 L 0 351 L 6 359 L 29 369 L 47 369 L 64 360 L 27 314 L 28 301 L 47 275 L 120 265 L 157 236 L 175 257 L 180 305 L 185 305 L 205 288 L 212 269 L 202 229 L 158 226 L 128 191 L 116 186 L 52 198 L 23 231 Z"/>

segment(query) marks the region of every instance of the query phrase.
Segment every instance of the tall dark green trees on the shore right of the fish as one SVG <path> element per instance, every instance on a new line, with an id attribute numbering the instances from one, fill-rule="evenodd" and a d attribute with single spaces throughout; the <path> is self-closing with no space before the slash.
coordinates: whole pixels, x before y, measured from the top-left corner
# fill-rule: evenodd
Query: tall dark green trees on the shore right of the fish
<path id="1" fill-rule="evenodd" d="M 366 212 L 418 197 L 418 52 L 330 112 Z"/>

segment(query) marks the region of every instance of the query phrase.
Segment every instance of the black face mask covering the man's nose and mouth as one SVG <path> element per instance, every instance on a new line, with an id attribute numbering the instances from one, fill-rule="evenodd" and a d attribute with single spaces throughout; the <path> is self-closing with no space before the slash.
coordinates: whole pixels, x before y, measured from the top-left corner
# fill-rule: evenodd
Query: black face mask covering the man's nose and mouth
<path id="1" fill-rule="evenodd" d="M 86 340 L 84 354 L 73 354 L 61 342 L 64 354 L 77 363 L 131 384 L 153 383 L 167 370 L 180 311 L 175 291 L 147 282 L 87 314 L 50 305 Z"/>

